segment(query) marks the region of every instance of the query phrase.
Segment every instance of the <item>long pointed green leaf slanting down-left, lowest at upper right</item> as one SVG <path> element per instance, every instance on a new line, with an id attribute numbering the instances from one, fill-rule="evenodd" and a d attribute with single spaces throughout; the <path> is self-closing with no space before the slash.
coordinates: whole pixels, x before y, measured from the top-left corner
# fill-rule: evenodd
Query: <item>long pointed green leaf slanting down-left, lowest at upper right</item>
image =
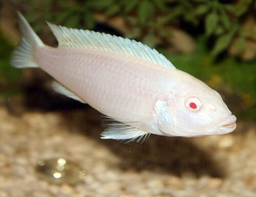
<path id="1" fill-rule="evenodd" d="M 212 50 L 212 54 L 217 55 L 220 52 L 224 51 L 229 46 L 234 36 L 234 33 L 236 33 L 237 30 L 238 30 L 238 27 L 235 26 L 228 33 L 220 36 L 216 41 L 214 49 Z"/>

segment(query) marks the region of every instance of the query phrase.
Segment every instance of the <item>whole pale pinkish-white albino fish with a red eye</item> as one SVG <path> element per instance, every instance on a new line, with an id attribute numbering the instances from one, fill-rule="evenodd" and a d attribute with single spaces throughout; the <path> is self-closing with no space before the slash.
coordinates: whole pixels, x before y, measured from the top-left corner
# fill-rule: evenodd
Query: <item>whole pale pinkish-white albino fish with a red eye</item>
<path id="1" fill-rule="evenodd" d="M 11 64 L 41 68 L 58 81 L 53 83 L 55 91 L 115 120 L 102 139 L 196 137 L 236 128 L 237 119 L 219 93 L 176 69 L 155 49 L 127 38 L 48 23 L 58 40 L 53 48 L 18 16 L 22 41 Z"/>

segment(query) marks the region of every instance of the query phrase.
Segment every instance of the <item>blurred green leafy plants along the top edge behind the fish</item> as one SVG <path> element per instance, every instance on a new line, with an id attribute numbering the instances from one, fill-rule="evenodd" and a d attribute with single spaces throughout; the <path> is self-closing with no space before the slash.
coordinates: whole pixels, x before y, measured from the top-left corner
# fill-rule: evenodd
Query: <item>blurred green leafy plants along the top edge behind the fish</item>
<path id="1" fill-rule="evenodd" d="M 156 47 L 159 36 L 170 36 L 165 25 L 187 23 L 197 28 L 203 22 L 205 36 L 214 37 L 214 55 L 227 49 L 234 36 L 240 38 L 237 48 L 243 48 L 245 37 L 241 25 L 244 16 L 256 12 L 255 0 L 26 0 L 25 3 L 32 8 L 26 17 L 34 24 L 35 31 L 44 25 L 38 20 L 93 29 L 93 13 L 101 12 L 106 16 L 123 16 L 132 27 L 132 32 L 124 36 L 142 40 L 150 47 Z"/>

